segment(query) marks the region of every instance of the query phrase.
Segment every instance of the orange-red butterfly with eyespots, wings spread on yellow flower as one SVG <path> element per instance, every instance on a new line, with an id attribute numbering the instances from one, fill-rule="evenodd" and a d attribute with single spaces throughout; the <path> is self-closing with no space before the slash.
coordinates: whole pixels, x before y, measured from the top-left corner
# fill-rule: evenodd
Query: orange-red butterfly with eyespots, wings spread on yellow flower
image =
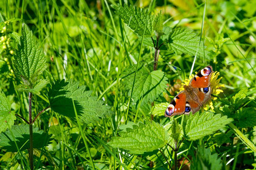
<path id="1" fill-rule="evenodd" d="M 171 117 L 179 114 L 196 113 L 210 100 L 210 78 L 212 77 L 212 66 L 204 67 L 194 76 L 188 86 L 174 97 L 168 105 L 164 116 Z"/>

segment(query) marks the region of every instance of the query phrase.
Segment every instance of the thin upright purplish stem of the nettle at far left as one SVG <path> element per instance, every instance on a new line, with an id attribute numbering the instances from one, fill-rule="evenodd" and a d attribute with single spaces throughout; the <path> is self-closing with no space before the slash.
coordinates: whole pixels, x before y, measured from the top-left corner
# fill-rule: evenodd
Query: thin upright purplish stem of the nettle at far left
<path id="1" fill-rule="evenodd" d="M 32 124 L 32 113 L 31 113 L 31 99 L 32 99 L 32 93 L 28 93 L 28 114 L 29 114 L 29 123 L 30 123 L 30 149 L 28 151 L 28 155 L 30 157 L 30 169 L 34 169 L 34 163 L 33 163 L 33 124 Z"/>

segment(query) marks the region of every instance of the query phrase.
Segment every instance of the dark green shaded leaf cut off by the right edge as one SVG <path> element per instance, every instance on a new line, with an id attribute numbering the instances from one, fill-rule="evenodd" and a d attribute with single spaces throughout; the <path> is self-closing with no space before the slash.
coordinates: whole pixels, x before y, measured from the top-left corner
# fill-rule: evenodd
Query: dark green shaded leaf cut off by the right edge
<path id="1" fill-rule="evenodd" d="M 240 128 L 249 128 L 256 126 L 256 109 L 253 107 L 242 108 L 237 114 L 234 114 L 236 126 Z"/>

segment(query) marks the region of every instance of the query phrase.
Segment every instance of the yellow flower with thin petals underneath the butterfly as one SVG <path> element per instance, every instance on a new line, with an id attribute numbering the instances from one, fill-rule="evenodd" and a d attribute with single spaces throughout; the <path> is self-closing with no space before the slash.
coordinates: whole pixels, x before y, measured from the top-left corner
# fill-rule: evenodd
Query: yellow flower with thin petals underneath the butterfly
<path id="1" fill-rule="evenodd" d="M 196 72 L 196 74 L 197 74 L 197 72 Z M 212 74 L 212 77 L 210 78 L 210 88 L 212 89 L 211 94 L 214 95 L 214 96 L 216 96 L 216 95 L 220 94 L 221 92 L 223 92 L 223 90 L 221 90 L 220 88 L 221 88 L 221 87 L 225 87 L 224 84 L 219 84 L 219 83 L 220 83 L 220 80 L 222 79 L 222 77 L 218 79 L 218 76 L 219 76 L 219 75 L 220 75 L 220 73 L 219 73 L 218 71 L 215 71 L 215 72 Z M 185 80 L 184 80 L 184 83 L 181 83 L 180 91 L 183 91 L 183 90 L 184 90 L 184 87 L 183 87 L 184 85 L 187 85 L 187 86 L 188 86 L 190 80 L 191 80 L 194 76 L 195 76 L 195 75 L 193 75 L 193 74 L 192 74 L 192 75 L 189 75 L 189 79 L 185 79 Z M 216 100 L 216 99 L 217 99 L 217 97 L 214 97 L 214 96 L 211 96 L 212 100 Z M 204 108 L 205 111 L 208 110 L 208 107 L 207 107 L 207 106 L 209 106 L 211 109 L 214 109 L 214 108 L 213 108 L 212 100 L 208 100 L 207 103 L 205 103 L 205 104 L 203 105 L 202 108 Z"/>

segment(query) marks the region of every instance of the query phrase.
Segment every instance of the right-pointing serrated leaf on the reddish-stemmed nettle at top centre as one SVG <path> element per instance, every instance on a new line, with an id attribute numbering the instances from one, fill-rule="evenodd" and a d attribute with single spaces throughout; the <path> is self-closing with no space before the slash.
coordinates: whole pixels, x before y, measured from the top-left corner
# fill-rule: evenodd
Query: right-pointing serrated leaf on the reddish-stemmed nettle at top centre
<path id="1" fill-rule="evenodd" d="M 168 46 L 168 50 L 177 55 L 184 53 L 195 56 L 199 41 L 200 37 L 197 37 L 196 33 L 191 29 L 178 27 L 172 29 L 166 45 Z M 206 58 L 210 58 L 209 54 L 210 53 L 207 50 L 204 50 L 203 42 L 201 42 L 197 55 L 200 57 L 205 56 Z"/>

